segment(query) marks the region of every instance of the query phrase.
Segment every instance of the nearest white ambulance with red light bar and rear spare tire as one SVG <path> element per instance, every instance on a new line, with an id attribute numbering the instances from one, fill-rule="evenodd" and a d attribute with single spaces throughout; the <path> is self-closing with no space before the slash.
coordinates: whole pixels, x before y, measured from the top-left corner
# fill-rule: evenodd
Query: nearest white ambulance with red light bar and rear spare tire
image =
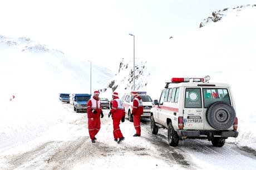
<path id="1" fill-rule="evenodd" d="M 209 76 L 173 78 L 166 83 L 151 109 L 152 134 L 167 128 L 170 146 L 178 146 L 179 140 L 186 138 L 200 138 L 222 147 L 225 139 L 237 137 L 238 119 L 230 86 L 209 80 Z"/>

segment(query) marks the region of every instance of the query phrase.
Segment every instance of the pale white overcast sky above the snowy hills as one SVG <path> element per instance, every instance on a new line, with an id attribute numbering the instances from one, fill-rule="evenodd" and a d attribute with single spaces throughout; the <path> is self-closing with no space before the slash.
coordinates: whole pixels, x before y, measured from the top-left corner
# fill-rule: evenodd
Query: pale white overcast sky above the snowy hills
<path id="1" fill-rule="evenodd" d="M 256 0 L 0 1 L 0 35 L 28 37 L 73 58 L 116 70 L 170 36 L 199 28 L 211 12 Z M 170 39 L 171 40 L 171 39 Z M 1 57 L 1 56 L 0 56 Z"/>

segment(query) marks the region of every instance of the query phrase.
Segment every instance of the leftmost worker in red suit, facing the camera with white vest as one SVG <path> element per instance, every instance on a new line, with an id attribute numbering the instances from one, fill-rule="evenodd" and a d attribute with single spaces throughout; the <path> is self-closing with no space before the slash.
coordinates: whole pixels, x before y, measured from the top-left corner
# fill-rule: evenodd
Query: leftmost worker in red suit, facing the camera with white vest
<path id="1" fill-rule="evenodd" d="M 91 99 L 87 102 L 88 130 L 92 143 L 95 143 L 95 140 L 97 140 L 95 135 L 97 135 L 100 130 L 100 115 L 101 118 L 104 117 L 99 95 L 100 92 L 95 91 Z"/>

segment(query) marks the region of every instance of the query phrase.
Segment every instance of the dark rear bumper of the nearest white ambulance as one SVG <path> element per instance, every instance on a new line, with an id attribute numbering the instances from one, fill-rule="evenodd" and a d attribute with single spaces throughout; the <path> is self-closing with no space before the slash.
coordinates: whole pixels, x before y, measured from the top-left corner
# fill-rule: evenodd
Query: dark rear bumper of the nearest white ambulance
<path id="1" fill-rule="evenodd" d="M 237 131 L 189 131 L 178 130 L 178 135 L 182 137 L 238 137 Z"/>

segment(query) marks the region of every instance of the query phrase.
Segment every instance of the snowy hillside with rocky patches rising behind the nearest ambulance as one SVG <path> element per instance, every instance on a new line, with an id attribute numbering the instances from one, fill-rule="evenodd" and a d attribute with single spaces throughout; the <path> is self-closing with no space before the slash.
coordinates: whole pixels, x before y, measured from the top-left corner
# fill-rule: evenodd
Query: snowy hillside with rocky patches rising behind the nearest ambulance
<path id="1" fill-rule="evenodd" d="M 221 13 L 219 22 L 204 20 L 203 25 L 208 23 L 205 27 L 169 39 L 151 49 L 144 58 L 140 56 L 139 71 L 149 76 L 144 76 L 141 83 L 146 86 L 135 86 L 136 89 L 146 90 L 153 99 L 159 99 L 165 82 L 173 77 L 203 78 L 210 75 L 211 82 L 228 83 L 235 97 L 239 120 L 240 135 L 236 142 L 256 149 L 256 133 L 253 128 L 248 128 L 256 123 L 256 109 L 252 107 L 252 89 L 256 84 L 256 7 L 244 6 L 224 11 L 228 14 Z M 130 91 L 133 84 L 126 80 L 131 76 L 132 62 L 128 63 L 130 68 L 125 67 L 112 79 L 116 80 L 116 91 L 120 94 Z M 143 66 L 145 68 L 141 68 Z M 104 88 L 107 89 L 107 86 Z"/>

